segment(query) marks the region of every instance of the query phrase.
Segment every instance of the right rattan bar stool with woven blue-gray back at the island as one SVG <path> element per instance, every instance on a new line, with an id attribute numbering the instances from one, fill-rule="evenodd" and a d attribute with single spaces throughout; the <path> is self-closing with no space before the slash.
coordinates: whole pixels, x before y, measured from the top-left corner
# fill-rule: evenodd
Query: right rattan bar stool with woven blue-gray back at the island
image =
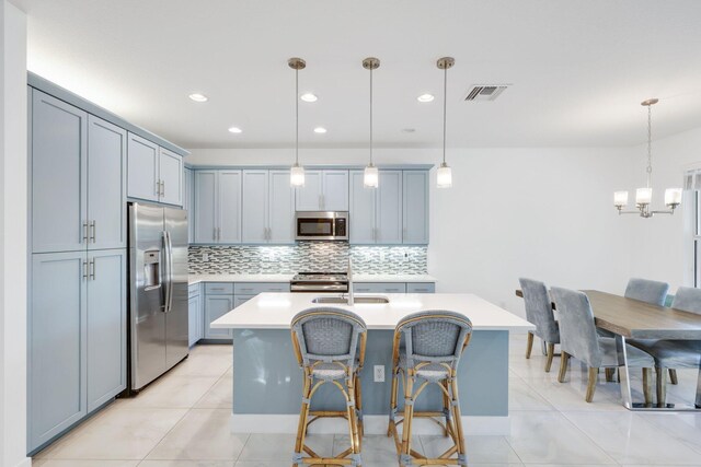
<path id="1" fill-rule="evenodd" d="M 394 329 L 392 347 L 392 393 L 388 436 L 394 444 L 401 466 L 467 466 L 457 371 L 460 355 L 470 341 L 472 323 L 464 315 L 446 311 L 425 311 L 404 317 Z M 399 380 L 404 388 L 404 416 L 398 419 Z M 443 411 L 415 411 L 414 404 L 429 384 L 443 393 Z M 412 450 L 414 418 L 429 418 L 452 439 L 452 447 L 437 458 L 426 458 Z M 440 419 L 445 419 L 443 422 Z M 402 427 L 400 441 L 398 425 Z M 457 458 L 452 457 L 457 454 Z"/>

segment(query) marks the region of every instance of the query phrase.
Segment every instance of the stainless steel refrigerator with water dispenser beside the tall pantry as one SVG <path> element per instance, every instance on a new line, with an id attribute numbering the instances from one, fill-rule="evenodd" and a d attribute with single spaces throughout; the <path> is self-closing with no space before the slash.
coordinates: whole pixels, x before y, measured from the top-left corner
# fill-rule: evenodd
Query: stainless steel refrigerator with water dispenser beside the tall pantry
<path id="1" fill-rule="evenodd" d="M 129 205 L 129 390 L 187 357 L 187 211 Z"/>

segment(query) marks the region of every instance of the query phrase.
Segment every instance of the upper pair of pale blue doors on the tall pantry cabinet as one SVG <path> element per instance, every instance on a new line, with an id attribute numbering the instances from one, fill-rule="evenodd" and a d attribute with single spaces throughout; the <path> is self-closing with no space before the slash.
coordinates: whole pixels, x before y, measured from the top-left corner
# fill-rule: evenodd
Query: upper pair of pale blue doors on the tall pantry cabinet
<path id="1" fill-rule="evenodd" d="M 126 131 L 32 93 L 32 250 L 126 247 Z"/>

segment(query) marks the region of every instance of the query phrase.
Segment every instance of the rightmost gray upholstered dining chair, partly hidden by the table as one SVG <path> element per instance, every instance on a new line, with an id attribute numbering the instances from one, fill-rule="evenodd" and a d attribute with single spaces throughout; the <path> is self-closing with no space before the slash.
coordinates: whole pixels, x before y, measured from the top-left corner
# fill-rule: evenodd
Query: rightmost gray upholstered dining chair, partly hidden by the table
<path id="1" fill-rule="evenodd" d="M 701 315 L 701 289 L 680 287 L 671 307 Z M 671 375 L 671 370 L 675 369 L 701 367 L 701 340 L 629 339 L 629 342 L 655 359 L 659 406 L 664 406 L 666 400 L 665 369 L 669 369 Z M 676 377 L 673 383 L 674 380 Z M 696 405 L 701 407 L 701 400 L 697 400 Z"/>

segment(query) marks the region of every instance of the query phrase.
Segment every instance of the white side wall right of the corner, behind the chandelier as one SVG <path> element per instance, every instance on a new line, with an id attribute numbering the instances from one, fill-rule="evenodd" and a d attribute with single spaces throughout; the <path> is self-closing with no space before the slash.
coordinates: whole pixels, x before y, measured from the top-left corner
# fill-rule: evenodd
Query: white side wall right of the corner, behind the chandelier
<path id="1" fill-rule="evenodd" d="M 647 147 L 630 148 L 629 152 L 635 174 L 629 188 L 633 190 L 645 184 Z M 681 187 L 683 172 L 689 167 L 701 167 L 701 128 L 653 141 L 653 205 L 664 208 L 665 188 Z M 688 195 L 685 194 L 680 212 L 671 217 L 627 220 L 632 226 L 631 275 L 669 282 L 673 292 L 679 285 L 693 285 L 693 202 Z"/>

